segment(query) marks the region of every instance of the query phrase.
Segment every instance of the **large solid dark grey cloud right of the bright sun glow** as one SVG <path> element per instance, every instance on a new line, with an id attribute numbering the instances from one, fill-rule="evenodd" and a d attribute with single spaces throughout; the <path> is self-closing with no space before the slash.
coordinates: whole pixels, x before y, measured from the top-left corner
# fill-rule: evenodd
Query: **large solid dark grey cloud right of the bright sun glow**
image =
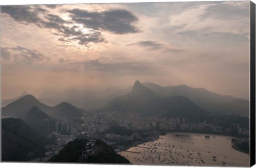
<path id="1" fill-rule="evenodd" d="M 81 9 L 68 11 L 72 20 L 94 30 L 107 30 L 115 34 L 138 33 L 139 29 L 131 25 L 138 18 L 130 11 L 114 9 L 103 12 L 89 12 Z"/>

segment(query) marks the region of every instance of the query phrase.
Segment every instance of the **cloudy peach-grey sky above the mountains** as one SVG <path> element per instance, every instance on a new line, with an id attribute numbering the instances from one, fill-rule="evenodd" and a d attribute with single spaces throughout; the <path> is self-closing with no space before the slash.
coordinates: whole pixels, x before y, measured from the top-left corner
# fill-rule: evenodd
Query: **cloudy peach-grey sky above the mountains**
<path id="1" fill-rule="evenodd" d="M 136 79 L 249 99 L 250 1 L 1 7 L 2 98 Z"/>

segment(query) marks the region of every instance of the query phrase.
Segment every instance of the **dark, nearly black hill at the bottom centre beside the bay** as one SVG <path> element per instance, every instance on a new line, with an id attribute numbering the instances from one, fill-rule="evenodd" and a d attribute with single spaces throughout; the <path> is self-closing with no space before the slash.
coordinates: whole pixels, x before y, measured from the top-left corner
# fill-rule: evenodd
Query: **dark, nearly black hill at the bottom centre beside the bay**
<path id="1" fill-rule="evenodd" d="M 87 142 L 89 141 L 86 139 L 75 139 L 74 141 L 69 142 L 63 149 L 59 151 L 59 154 L 54 155 L 49 159 L 48 162 L 130 164 L 130 161 L 123 156 L 116 154 L 113 148 L 101 140 L 96 140 L 95 153 L 93 155 L 88 156 L 86 159 L 81 159 Z"/>

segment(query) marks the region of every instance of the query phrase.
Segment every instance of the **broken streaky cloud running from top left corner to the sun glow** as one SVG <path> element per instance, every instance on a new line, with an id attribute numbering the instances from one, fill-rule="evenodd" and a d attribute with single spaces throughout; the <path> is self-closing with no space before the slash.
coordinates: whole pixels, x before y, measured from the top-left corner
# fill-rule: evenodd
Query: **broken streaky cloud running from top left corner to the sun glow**
<path id="1" fill-rule="evenodd" d="M 14 20 L 23 24 L 34 24 L 40 28 L 54 30 L 53 34 L 61 36 L 58 41 L 77 42 L 87 46 L 89 43 L 107 42 L 100 31 L 91 30 L 83 33 L 82 29 L 73 25 L 73 21 L 65 21 L 58 15 L 45 13 L 46 10 L 39 8 L 37 5 L 17 5 L 3 6 L 2 13 L 8 14 Z M 39 18 L 39 13 L 43 13 L 44 18 Z"/>

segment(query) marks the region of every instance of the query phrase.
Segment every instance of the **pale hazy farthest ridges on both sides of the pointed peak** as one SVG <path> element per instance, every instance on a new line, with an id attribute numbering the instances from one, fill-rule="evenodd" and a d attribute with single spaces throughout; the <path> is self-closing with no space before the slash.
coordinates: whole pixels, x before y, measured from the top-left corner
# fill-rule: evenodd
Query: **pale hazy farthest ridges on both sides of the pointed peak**
<path id="1" fill-rule="evenodd" d="M 161 86 L 155 83 L 141 83 L 143 86 L 154 91 L 158 97 L 183 96 L 190 99 L 198 107 L 214 114 L 236 114 L 249 116 L 249 101 L 221 95 L 204 88 L 194 88 L 187 85 Z M 133 87 L 117 89 L 115 87 L 102 91 L 83 91 L 68 89 L 63 92 L 43 91 L 39 100 L 46 105 L 56 105 L 59 102 L 67 101 L 72 105 L 85 110 L 102 108 L 116 97 L 128 94 Z"/>

